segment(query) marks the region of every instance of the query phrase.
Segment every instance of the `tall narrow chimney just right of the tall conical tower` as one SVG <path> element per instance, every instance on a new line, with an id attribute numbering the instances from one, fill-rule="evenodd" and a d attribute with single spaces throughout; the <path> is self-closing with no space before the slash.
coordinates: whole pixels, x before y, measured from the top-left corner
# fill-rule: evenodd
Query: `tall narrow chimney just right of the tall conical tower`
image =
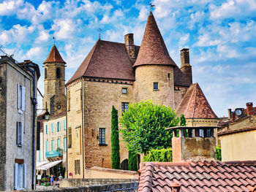
<path id="1" fill-rule="evenodd" d="M 181 50 L 181 72 L 189 78 L 192 84 L 192 66 L 189 64 L 189 49 L 187 48 Z"/>

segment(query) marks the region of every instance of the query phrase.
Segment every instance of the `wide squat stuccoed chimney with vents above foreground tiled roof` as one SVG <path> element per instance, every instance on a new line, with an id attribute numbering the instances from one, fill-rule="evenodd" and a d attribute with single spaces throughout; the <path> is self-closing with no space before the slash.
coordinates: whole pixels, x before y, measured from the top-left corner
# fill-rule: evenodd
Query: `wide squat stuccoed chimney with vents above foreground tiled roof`
<path id="1" fill-rule="evenodd" d="M 173 162 L 216 159 L 216 139 L 211 126 L 173 127 Z M 184 137 L 184 130 L 188 137 Z M 179 134 L 177 134 L 177 131 Z"/>

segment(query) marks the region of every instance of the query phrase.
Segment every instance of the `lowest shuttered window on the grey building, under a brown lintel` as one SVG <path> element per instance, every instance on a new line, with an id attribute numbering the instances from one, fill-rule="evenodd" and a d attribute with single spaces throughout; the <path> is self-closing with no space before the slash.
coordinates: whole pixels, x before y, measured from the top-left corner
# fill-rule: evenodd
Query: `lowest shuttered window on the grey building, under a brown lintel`
<path id="1" fill-rule="evenodd" d="M 26 164 L 14 164 L 14 189 L 26 188 Z"/>

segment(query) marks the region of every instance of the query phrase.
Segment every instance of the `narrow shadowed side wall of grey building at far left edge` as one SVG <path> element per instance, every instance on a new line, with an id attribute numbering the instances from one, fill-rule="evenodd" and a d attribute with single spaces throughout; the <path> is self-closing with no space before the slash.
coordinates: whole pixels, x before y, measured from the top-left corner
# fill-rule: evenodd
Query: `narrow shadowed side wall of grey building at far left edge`
<path id="1" fill-rule="evenodd" d="M 0 63 L 0 191 L 4 191 L 6 162 L 7 65 Z"/>

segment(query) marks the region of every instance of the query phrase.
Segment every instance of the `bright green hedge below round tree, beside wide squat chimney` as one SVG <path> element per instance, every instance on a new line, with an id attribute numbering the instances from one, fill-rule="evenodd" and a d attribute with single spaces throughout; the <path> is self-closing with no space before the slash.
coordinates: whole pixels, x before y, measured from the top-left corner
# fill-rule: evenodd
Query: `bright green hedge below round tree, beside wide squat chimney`
<path id="1" fill-rule="evenodd" d="M 143 161 L 171 162 L 173 161 L 173 150 L 171 147 L 165 149 L 151 149 L 143 156 Z"/>

